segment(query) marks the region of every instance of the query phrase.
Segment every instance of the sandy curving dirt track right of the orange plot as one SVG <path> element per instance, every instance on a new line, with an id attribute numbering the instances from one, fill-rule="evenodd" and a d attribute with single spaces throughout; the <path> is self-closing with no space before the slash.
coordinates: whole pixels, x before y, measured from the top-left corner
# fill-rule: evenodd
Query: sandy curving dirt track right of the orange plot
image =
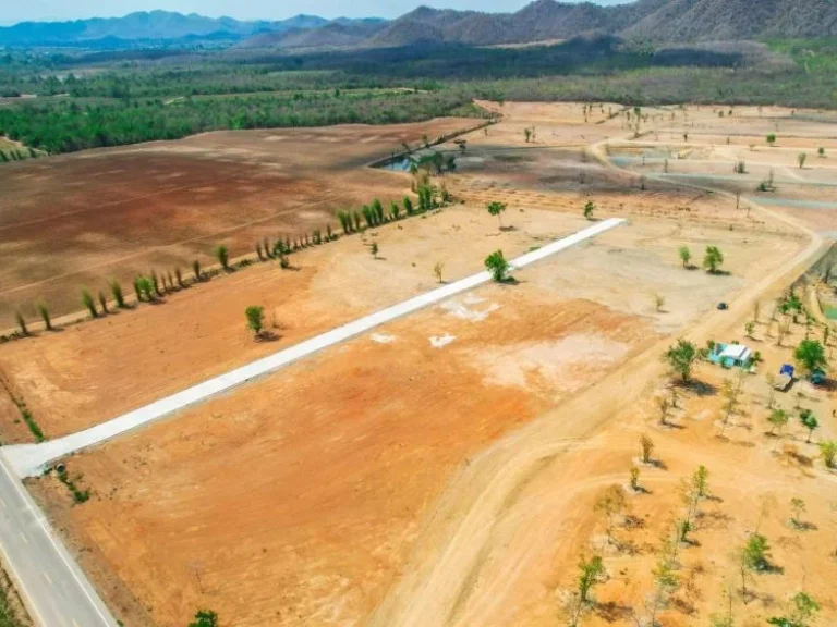
<path id="1" fill-rule="evenodd" d="M 605 152 L 608 142 L 591 146 L 590 155 L 615 172 L 635 175 L 609 162 Z M 699 185 L 679 186 L 709 189 Z M 731 201 L 735 199 L 723 190 L 711 190 Z M 702 342 L 729 328 L 764 294 L 789 285 L 826 246 L 820 235 L 797 220 L 748 202 L 753 210 L 805 234 L 810 242 L 779 270 L 740 293 L 729 311 L 713 311 L 683 333 L 686 337 Z M 456 622 L 457 610 L 469 595 L 481 563 L 489 553 L 495 524 L 548 462 L 569 447 L 584 445 L 585 438 L 597 428 L 651 393 L 666 371 L 660 355 L 670 341 L 666 337 L 650 344 L 646 351 L 599 383 L 466 460 L 424 522 L 411 563 L 366 623 L 380 627 L 422 627 Z M 537 548 L 527 550 L 533 549 Z M 524 563 L 525 556 L 519 554 L 509 567 L 519 568 Z"/>

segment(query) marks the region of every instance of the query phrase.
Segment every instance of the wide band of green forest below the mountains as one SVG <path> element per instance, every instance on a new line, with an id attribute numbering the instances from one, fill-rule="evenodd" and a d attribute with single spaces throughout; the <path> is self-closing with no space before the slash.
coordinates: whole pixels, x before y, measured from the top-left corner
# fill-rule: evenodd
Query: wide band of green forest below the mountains
<path id="1" fill-rule="evenodd" d="M 119 51 L 14 51 L 0 58 L 0 95 L 37 98 L 0 107 L 0 135 L 32 150 L 3 151 L 0 160 L 215 130 L 484 116 L 474 99 L 827 109 L 837 91 L 834 42 L 772 40 L 774 52 L 749 63 L 741 51 L 654 49 L 611 37 L 524 49 L 422 45 L 201 58 L 172 51 L 165 69 L 153 50 L 131 51 L 130 65 Z M 100 71 L 80 71 L 92 63 Z"/>

